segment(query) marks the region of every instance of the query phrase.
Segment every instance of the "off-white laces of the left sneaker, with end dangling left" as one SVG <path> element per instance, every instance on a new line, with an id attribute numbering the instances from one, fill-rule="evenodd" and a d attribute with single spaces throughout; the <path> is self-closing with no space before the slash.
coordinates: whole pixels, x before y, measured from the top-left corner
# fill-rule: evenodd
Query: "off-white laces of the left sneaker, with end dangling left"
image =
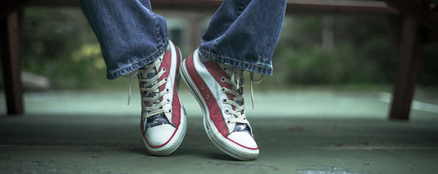
<path id="1" fill-rule="evenodd" d="M 163 97 L 164 95 L 170 92 L 170 90 L 167 88 L 163 91 L 159 91 L 159 87 L 168 82 L 168 78 L 164 78 L 161 81 L 159 81 L 159 78 L 164 74 L 164 72 L 166 72 L 166 68 L 161 68 L 160 70 L 157 69 L 159 68 L 160 64 L 161 64 L 161 59 L 157 59 L 156 61 L 152 62 L 152 64 L 146 66 L 146 68 L 136 70 L 135 72 L 132 72 L 130 75 L 125 75 L 125 77 L 130 78 L 129 90 L 128 90 L 128 105 L 129 105 L 131 98 L 132 78 L 139 75 L 140 72 L 139 82 L 143 83 L 143 88 L 140 88 L 140 92 L 141 93 L 146 92 L 145 97 L 141 97 L 141 101 L 146 101 L 147 104 L 147 106 L 143 108 L 143 112 L 146 113 L 146 116 L 143 117 L 143 119 L 146 119 L 148 117 L 160 113 L 171 112 L 170 109 L 164 109 L 162 107 L 166 104 L 169 104 L 170 101 L 164 101 L 164 100 L 160 101 L 161 97 Z M 146 77 L 148 74 L 155 73 L 157 71 L 158 73 L 154 77 L 152 78 Z M 152 93 L 155 93 L 155 95 L 151 95 Z"/>

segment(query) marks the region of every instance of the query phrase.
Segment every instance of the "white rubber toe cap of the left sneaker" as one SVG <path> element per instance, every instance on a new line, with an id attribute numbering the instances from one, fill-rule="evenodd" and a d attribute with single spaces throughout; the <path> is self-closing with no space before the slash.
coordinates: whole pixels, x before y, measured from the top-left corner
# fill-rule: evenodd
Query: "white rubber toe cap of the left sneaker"
<path id="1" fill-rule="evenodd" d="M 145 134 L 146 141 L 148 142 L 148 145 L 152 147 L 164 146 L 169 142 L 173 133 L 175 133 L 175 130 L 176 128 L 170 124 L 148 128 Z"/>

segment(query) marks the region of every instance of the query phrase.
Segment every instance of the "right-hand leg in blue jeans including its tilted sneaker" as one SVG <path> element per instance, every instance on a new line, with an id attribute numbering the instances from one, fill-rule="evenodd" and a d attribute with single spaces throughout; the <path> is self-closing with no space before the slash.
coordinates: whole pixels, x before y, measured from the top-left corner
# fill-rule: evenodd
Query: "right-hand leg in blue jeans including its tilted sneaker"
<path id="1" fill-rule="evenodd" d="M 204 113 L 211 142 L 238 160 L 259 148 L 245 116 L 243 70 L 272 75 L 286 1 L 224 1 L 202 43 L 182 64 L 182 77 Z"/>

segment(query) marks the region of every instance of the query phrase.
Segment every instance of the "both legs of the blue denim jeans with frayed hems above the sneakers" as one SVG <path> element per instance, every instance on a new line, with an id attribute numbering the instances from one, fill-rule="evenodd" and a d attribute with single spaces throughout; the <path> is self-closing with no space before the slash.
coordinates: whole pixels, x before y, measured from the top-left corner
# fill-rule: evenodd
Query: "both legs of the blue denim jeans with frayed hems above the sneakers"
<path id="1" fill-rule="evenodd" d="M 107 78 L 133 72 L 164 53 L 164 17 L 148 0 L 79 0 L 100 43 Z M 272 55 L 286 0 L 225 0 L 202 36 L 200 55 L 249 72 L 272 75 Z"/>

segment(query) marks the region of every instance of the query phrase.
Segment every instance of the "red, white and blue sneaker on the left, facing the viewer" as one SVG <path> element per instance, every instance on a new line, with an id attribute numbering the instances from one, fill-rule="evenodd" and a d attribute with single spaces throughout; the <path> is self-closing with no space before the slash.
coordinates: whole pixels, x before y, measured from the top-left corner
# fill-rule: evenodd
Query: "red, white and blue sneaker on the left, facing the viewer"
<path id="1" fill-rule="evenodd" d="M 186 134 L 186 111 L 177 93 L 181 52 L 169 41 L 157 60 L 137 71 L 141 92 L 141 132 L 153 155 L 170 155 Z"/>

